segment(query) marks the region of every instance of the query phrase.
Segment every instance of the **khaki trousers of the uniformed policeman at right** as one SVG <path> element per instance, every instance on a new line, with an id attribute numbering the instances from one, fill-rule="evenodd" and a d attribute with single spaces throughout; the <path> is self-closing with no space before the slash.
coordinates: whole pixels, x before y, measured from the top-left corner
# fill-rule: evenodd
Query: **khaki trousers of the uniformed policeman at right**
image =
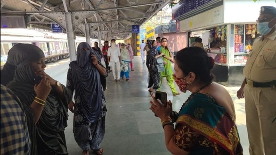
<path id="1" fill-rule="evenodd" d="M 250 155 L 276 152 L 276 90 L 244 87 Z"/>

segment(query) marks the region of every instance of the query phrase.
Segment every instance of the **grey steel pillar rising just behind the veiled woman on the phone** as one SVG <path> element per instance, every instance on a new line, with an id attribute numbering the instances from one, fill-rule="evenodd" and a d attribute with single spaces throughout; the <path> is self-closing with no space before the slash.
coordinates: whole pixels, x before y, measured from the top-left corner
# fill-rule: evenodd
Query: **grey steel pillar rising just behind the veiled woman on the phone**
<path id="1" fill-rule="evenodd" d="M 66 25 L 66 34 L 69 47 L 70 61 L 77 60 L 76 56 L 76 44 L 75 44 L 75 35 L 73 32 L 73 23 L 71 13 L 64 13 L 65 16 L 65 25 Z"/>

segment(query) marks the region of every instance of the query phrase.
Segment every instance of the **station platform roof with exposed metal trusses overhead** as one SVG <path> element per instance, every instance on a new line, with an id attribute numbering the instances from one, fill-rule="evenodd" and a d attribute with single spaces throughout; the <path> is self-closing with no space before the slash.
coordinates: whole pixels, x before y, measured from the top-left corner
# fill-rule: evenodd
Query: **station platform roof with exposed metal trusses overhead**
<path id="1" fill-rule="evenodd" d="M 132 25 L 143 25 L 172 0 L 1 0 L 2 16 L 24 16 L 27 23 L 50 29 L 58 23 L 66 32 L 65 14 L 71 14 L 73 31 L 85 36 L 108 35 L 122 39 L 131 33 Z M 2 20 L 2 19 L 1 19 Z M 103 38 L 103 37 L 102 37 Z"/>

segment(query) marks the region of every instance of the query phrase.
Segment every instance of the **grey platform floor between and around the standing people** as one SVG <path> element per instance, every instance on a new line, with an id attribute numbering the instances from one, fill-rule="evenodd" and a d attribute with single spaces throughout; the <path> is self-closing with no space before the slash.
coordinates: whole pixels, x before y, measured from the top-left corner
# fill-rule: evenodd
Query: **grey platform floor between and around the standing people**
<path id="1" fill-rule="evenodd" d="M 46 73 L 52 78 L 66 85 L 66 76 L 70 60 L 64 59 L 56 63 L 47 64 Z M 104 63 L 103 63 L 104 64 Z M 164 130 L 160 119 L 155 117 L 149 109 L 151 100 L 148 91 L 148 70 L 142 63 L 141 57 L 133 59 L 133 69 L 130 80 L 121 80 L 119 83 L 113 79 L 112 72 L 107 77 L 107 90 L 104 92 L 107 105 L 105 136 L 101 143 L 104 155 L 117 154 L 171 154 L 165 146 Z M 173 96 L 170 87 L 163 79 L 162 91 L 168 92 L 168 99 L 173 102 L 173 109 L 179 110 L 190 93 Z M 177 87 L 177 85 L 176 85 Z M 232 96 L 236 110 L 236 124 L 238 126 L 244 154 L 248 153 L 248 137 L 245 122 L 244 99 L 237 99 L 238 87 L 225 87 Z M 177 87 L 179 91 L 179 88 Z M 68 127 L 65 130 L 69 154 L 81 154 L 72 128 L 73 113 L 68 112 Z M 90 154 L 93 154 L 90 152 Z"/>

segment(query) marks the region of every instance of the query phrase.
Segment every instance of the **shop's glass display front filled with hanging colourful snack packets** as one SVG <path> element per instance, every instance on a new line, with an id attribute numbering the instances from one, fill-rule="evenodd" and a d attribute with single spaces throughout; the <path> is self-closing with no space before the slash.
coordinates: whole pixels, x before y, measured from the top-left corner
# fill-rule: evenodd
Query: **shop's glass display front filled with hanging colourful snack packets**
<path id="1" fill-rule="evenodd" d="M 208 56 L 215 60 L 212 73 L 216 82 L 225 86 L 242 83 L 247 56 L 258 36 L 256 24 L 229 24 L 210 30 Z"/>

